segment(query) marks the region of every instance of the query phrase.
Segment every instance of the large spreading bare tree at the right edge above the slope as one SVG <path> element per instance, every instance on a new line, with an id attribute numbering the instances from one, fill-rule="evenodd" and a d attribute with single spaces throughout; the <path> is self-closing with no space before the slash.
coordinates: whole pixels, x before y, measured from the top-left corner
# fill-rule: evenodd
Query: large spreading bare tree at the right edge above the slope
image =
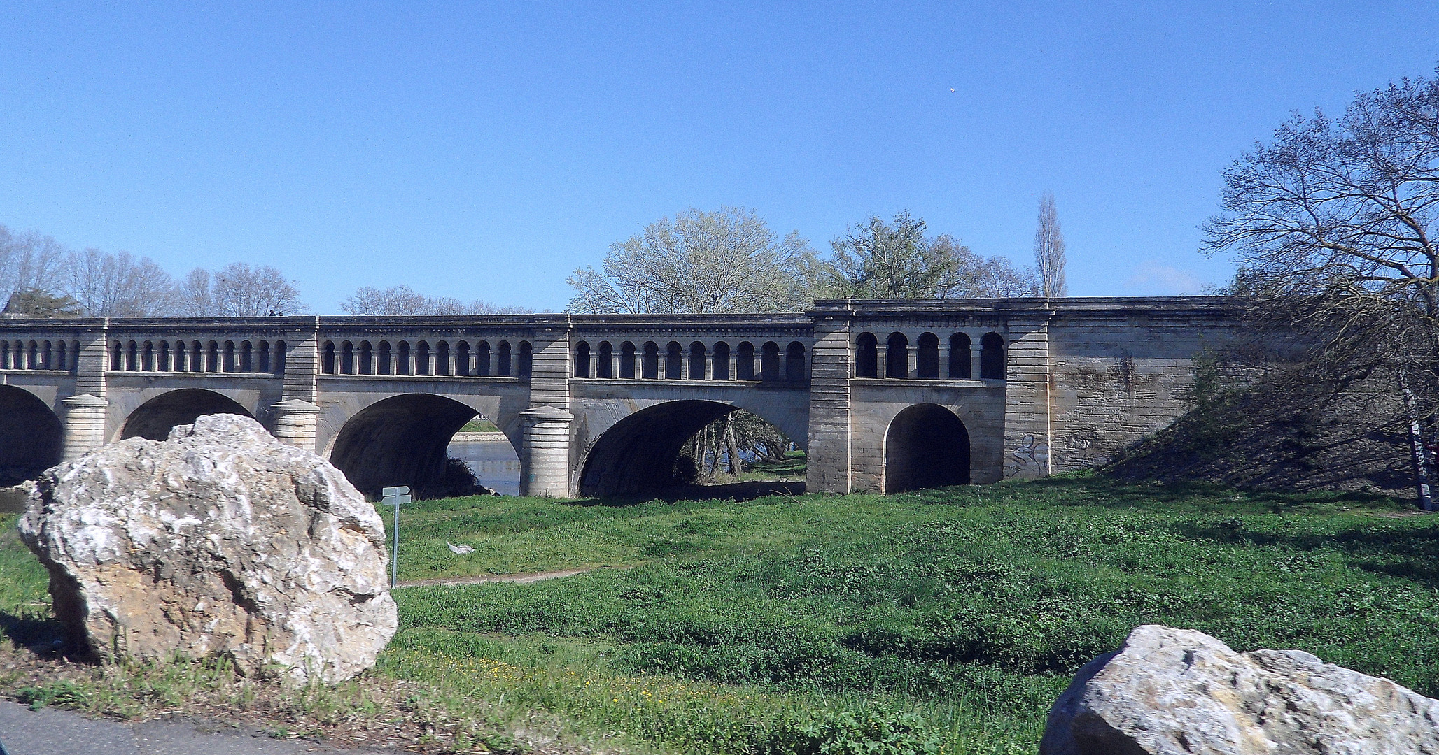
<path id="1" fill-rule="evenodd" d="M 1305 335 L 1325 371 L 1381 374 L 1407 413 L 1420 506 L 1439 385 L 1439 69 L 1356 93 L 1338 119 L 1295 114 L 1223 171 L 1209 253 L 1242 265 L 1256 318 Z"/>

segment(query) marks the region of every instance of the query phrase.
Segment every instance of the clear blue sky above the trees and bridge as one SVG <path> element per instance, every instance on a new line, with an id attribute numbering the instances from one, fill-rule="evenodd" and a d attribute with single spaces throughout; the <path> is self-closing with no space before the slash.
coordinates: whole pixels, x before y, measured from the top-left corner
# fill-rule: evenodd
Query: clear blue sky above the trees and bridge
<path id="1" fill-rule="evenodd" d="M 0 224 L 553 311 L 686 207 L 1027 265 L 1050 190 L 1072 295 L 1199 293 L 1225 164 L 1439 63 L 1430 0 L 599 6 L 4 3 Z"/>

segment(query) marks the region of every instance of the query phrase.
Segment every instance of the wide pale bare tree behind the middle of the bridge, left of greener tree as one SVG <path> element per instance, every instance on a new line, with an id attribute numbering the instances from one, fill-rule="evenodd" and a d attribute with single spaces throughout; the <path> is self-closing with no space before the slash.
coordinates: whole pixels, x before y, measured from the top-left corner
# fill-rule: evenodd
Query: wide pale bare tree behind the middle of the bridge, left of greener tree
<path id="1" fill-rule="evenodd" d="M 685 210 L 610 246 L 600 270 L 574 270 L 571 312 L 787 312 L 817 265 L 799 233 L 780 239 L 754 210 Z"/>

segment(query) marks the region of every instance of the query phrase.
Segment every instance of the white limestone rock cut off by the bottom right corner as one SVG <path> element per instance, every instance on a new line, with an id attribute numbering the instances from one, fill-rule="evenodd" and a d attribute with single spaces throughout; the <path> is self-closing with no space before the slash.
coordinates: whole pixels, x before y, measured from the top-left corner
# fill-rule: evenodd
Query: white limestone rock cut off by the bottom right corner
<path id="1" fill-rule="evenodd" d="M 1439 700 L 1299 650 L 1137 627 L 1049 710 L 1040 755 L 1439 754 Z"/>

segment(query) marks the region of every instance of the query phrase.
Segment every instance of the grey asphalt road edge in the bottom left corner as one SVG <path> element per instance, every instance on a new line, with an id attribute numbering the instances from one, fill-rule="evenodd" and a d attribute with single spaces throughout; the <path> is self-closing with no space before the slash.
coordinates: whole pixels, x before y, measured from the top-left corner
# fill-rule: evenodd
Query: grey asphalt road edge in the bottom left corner
<path id="1" fill-rule="evenodd" d="M 394 749 L 337 749 L 308 739 L 275 739 L 253 729 L 183 720 L 119 723 L 73 710 L 0 702 L 0 755 L 399 755 Z"/>

